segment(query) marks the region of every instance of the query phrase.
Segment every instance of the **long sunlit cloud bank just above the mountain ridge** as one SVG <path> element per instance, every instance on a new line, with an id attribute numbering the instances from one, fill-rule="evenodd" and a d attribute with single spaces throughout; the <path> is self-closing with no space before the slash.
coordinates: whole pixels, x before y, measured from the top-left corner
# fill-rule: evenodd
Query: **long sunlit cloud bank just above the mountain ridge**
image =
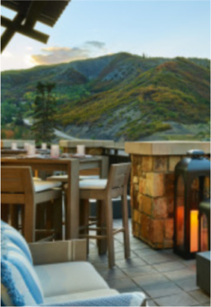
<path id="1" fill-rule="evenodd" d="M 106 44 L 100 41 L 87 41 L 80 47 L 48 47 L 41 50 L 43 54 L 32 55 L 34 65 L 52 65 L 88 59 L 106 53 Z"/>

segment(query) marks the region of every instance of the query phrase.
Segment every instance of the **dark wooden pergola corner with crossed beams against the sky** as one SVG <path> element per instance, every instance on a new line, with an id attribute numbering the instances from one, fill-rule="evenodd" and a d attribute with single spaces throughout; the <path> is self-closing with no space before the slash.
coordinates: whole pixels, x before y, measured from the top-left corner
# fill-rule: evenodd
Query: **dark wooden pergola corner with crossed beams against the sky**
<path id="1" fill-rule="evenodd" d="M 54 27 L 70 2 L 71 0 L 1 0 L 1 6 L 17 12 L 13 20 L 1 16 L 1 26 L 6 28 L 1 36 L 1 53 L 16 32 L 47 43 L 49 35 L 34 30 L 36 22 Z"/>

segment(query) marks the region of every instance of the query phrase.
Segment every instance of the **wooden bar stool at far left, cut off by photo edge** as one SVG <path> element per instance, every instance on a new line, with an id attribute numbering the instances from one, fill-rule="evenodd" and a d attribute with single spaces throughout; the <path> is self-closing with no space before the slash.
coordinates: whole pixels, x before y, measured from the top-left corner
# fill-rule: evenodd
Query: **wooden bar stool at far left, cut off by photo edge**
<path id="1" fill-rule="evenodd" d="M 60 182 L 34 180 L 29 167 L 1 167 L 1 207 L 8 204 L 11 206 L 12 226 L 17 228 L 18 205 L 21 205 L 22 230 L 27 242 L 34 242 L 35 234 L 42 237 L 44 232 L 49 239 L 62 239 L 60 186 Z M 37 227 L 39 223 L 44 224 L 44 208 L 45 211 L 51 211 L 50 224 L 53 225 L 53 229 Z"/>

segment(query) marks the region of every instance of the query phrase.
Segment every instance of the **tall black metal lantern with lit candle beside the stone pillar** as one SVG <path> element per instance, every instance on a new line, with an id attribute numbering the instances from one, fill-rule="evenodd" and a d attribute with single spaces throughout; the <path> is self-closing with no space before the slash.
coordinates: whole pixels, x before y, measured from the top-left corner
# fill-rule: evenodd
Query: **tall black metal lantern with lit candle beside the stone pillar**
<path id="1" fill-rule="evenodd" d="M 175 168 L 174 252 L 193 259 L 199 251 L 199 203 L 209 193 L 211 162 L 203 151 L 187 154 Z"/>

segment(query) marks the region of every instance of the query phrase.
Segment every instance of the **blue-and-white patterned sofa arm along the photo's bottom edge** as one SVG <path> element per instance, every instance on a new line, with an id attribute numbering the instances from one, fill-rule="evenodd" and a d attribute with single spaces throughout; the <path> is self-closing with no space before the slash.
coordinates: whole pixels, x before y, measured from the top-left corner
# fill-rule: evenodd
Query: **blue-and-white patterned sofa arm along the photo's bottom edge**
<path id="1" fill-rule="evenodd" d="M 89 300 L 51 303 L 39 305 L 39 307 L 149 307 L 143 293 L 121 294 L 118 296 L 102 297 Z"/>

